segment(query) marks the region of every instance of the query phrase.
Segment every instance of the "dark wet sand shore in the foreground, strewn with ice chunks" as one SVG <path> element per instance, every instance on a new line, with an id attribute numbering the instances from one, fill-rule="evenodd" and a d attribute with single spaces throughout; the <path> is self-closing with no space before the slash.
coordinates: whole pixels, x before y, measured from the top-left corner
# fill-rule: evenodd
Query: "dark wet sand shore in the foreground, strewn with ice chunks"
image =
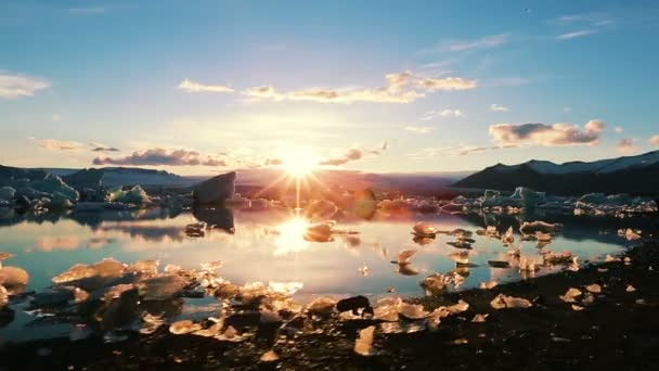
<path id="1" fill-rule="evenodd" d="M 378 328 L 377 355 L 370 357 L 352 349 L 358 330 L 374 322 L 332 317 L 314 321 L 310 325 L 320 331 L 302 335 L 276 334 L 272 327 L 261 327 L 256 340 L 243 343 L 171 335 L 167 327 L 114 344 L 99 337 L 22 344 L 3 340 L 0 369 L 657 370 L 659 244 L 630 248 L 624 256 L 631 258 L 630 265 L 603 263 L 492 290 L 411 299 L 434 309 L 462 298 L 469 308 L 442 319 L 435 331 L 384 334 Z M 602 293 L 583 310 L 576 311 L 559 298 L 569 287 L 585 292 L 584 286 L 593 283 L 602 286 Z M 636 291 L 628 292 L 628 284 Z M 493 309 L 490 302 L 500 293 L 527 298 L 533 306 Z M 484 323 L 474 323 L 476 314 L 489 316 Z M 233 324 L 258 325 L 258 317 L 256 321 L 254 316 L 236 317 Z M 271 349 L 280 359 L 260 361 Z"/>

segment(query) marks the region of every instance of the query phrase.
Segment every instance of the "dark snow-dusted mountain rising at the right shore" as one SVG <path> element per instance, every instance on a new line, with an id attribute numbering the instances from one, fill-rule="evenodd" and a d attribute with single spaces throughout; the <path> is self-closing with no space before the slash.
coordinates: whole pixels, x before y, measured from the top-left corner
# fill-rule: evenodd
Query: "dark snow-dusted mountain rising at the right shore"
<path id="1" fill-rule="evenodd" d="M 555 194 L 584 193 L 659 194 L 659 151 L 591 163 L 554 164 L 529 161 L 519 165 L 496 164 L 455 183 L 460 188 L 513 191 L 528 187 Z"/>

